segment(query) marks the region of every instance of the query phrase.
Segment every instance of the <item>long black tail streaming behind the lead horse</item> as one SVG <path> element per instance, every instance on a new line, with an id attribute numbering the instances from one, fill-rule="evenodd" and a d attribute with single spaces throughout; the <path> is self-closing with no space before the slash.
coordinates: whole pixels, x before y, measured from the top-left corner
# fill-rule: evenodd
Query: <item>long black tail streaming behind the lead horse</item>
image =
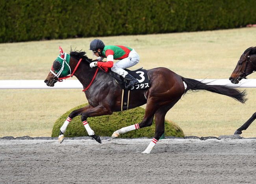
<path id="1" fill-rule="evenodd" d="M 182 80 L 187 84 L 187 89 L 185 90 L 185 93 L 187 93 L 187 91 L 189 90 L 190 91 L 206 90 L 206 91 L 211 91 L 213 93 L 219 93 L 221 95 L 232 97 L 243 104 L 247 100 L 247 98 L 245 98 L 246 96 L 245 90 L 241 92 L 235 88 L 228 87 L 228 86 L 208 85 L 191 78 L 182 77 Z"/>

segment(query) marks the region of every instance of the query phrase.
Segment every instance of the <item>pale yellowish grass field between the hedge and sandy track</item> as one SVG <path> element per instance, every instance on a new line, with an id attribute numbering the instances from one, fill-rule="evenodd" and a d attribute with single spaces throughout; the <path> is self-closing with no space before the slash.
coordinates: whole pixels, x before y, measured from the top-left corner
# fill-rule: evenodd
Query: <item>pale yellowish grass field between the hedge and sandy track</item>
<path id="1" fill-rule="evenodd" d="M 93 39 L 0 44 L 0 80 L 45 80 L 59 54 L 59 45 L 67 53 L 70 46 L 87 51 Z M 255 46 L 256 28 L 100 39 L 106 45 L 135 48 L 141 60 L 132 68 L 167 67 L 187 78 L 226 79 L 243 51 Z M 92 57 L 90 51 L 88 56 Z M 255 77 L 255 74 L 249 76 Z M 187 136 L 232 135 L 256 111 L 256 89 L 247 88 L 247 94 L 249 100 L 241 104 L 210 92 L 189 93 L 167 113 L 166 118 L 180 126 Z M 50 136 L 60 115 L 87 100 L 81 89 L 1 89 L 0 102 L 0 137 L 37 137 Z M 256 137 L 255 130 L 256 122 L 242 135 Z"/>

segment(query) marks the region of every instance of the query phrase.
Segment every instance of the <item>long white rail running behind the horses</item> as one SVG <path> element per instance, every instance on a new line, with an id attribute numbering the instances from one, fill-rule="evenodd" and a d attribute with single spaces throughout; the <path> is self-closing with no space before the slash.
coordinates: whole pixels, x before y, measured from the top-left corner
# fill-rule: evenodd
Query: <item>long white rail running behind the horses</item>
<path id="1" fill-rule="evenodd" d="M 196 80 L 202 81 L 203 79 Z M 230 87 L 256 87 L 256 79 L 243 79 L 238 84 L 232 84 L 228 79 L 204 79 L 202 82 Z M 54 87 L 46 86 L 44 80 L 0 80 L 0 89 L 83 89 L 83 86 L 78 80 L 56 82 Z"/>

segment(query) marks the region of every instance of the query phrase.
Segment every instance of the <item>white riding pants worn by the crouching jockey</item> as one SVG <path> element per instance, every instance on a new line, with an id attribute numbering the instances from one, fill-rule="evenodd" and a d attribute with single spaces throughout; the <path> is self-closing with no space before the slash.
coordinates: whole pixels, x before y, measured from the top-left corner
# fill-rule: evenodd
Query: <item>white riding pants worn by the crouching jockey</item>
<path id="1" fill-rule="evenodd" d="M 139 62 L 139 55 L 134 49 L 132 49 L 128 57 L 123 58 L 122 60 L 119 60 L 118 62 L 116 62 L 111 68 L 111 70 L 121 75 L 124 78 L 128 74 L 128 72 L 125 71 L 124 69 L 132 67 L 138 62 Z"/>

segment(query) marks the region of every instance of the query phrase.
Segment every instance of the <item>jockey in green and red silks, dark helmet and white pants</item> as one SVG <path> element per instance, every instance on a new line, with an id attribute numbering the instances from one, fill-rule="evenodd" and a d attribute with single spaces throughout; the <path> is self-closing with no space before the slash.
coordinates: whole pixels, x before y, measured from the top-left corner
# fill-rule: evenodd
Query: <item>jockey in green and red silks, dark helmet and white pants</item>
<path id="1" fill-rule="evenodd" d="M 90 44 L 90 49 L 98 58 L 97 61 L 91 62 L 90 67 L 100 66 L 108 67 L 119 75 L 121 75 L 126 83 L 129 82 L 126 88 L 132 87 L 139 81 L 130 75 L 124 69 L 132 67 L 139 62 L 139 55 L 134 49 L 125 46 L 105 46 L 101 40 L 95 39 Z M 102 62 L 107 58 L 107 62 Z M 113 60 L 119 60 L 114 64 Z"/>

